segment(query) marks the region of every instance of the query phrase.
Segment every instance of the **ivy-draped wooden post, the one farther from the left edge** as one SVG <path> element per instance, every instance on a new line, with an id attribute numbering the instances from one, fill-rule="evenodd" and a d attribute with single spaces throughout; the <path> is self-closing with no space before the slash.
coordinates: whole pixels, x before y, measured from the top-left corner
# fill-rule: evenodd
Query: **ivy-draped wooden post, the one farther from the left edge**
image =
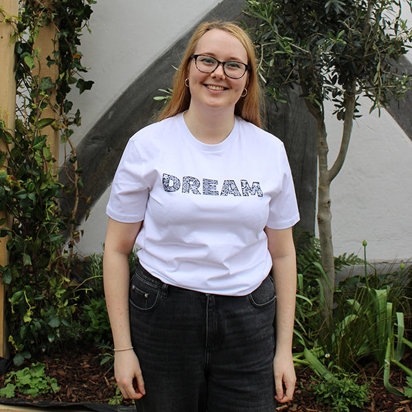
<path id="1" fill-rule="evenodd" d="M 41 1 L 44 5 L 48 6 L 49 1 Z M 36 63 L 33 73 L 38 75 L 38 78 L 47 78 L 49 77 L 52 82 L 56 82 L 58 78 L 58 65 L 47 65 L 47 57 L 49 56 L 54 60 L 54 51 L 58 49 L 58 41 L 56 37 L 56 27 L 53 22 L 49 23 L 47 26 L 40 27 L 38 30 L 38 38 L 34 42 L 34 49 L 39 49 L 39 62 Z M 45 108 L 41 114 L 43 119 L 45 118 L 54 118 L 59 119 L 60 115 L 58 110 L 54 110 L 56 105 L 56 89 L 52 90 L 52 95 L 50 97 L 49 106 Z M 47 143 L 50 145 L 50 150 L 56 163 L 54 163 L 54 174 L 57 179 L 57 170 L 58 170 L 58 151 L 59 151 L 59 132 L 54 130 L 52 126 L 47 126 L 41 130 L 42 135 L 47 135 Z"/>

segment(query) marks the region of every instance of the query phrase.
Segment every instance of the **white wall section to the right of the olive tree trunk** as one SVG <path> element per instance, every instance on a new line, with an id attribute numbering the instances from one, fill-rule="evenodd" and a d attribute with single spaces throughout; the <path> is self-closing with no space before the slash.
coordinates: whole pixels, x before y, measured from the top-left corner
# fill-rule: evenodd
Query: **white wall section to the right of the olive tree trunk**
<path id="1" fill-rule="evenodd" d="M 369 115 L 369 100 L 352 131 L 347 158 L 332 181 L 334 253 L 363 255 L 376 262 L 412 258 L 412 141 L 387 111 Z M 326 116 L 330 165 L 339 152 L 342 122 Z"/>

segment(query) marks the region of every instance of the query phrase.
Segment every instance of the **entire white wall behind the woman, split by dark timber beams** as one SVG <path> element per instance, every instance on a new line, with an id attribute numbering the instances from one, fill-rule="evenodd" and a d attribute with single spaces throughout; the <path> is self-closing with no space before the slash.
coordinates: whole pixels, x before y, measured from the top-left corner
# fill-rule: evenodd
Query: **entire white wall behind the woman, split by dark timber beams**
<path id="1" fill-rule="evenodd" d="M 83 64 L 90 67 L 91 91 L 72 95 L 82 113 L 79 141 L 154 58 L 218 3 L 217 0 L 100 0 L 93 5 L 91 31 L 82 37 Z M 391 116 L 368 115 L 363 104 L 356 120 L 343 170 L 332 182 L 332 229 L 335 255 L 362 254 L 368 242 L 369 260 L 412 258 L 412 141 Z M 339 150 L 341 122 L 329 108 L 329 159 Z M 84 222 L 79 253 L 102 251 L 109 191 Z"/>

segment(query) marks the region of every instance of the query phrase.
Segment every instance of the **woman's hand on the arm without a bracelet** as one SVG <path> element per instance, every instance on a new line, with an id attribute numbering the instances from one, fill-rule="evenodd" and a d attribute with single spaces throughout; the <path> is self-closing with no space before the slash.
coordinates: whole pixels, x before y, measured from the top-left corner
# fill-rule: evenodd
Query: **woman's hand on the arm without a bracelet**
<path id="1" fill-rule="evenodd" d="M 292 354 L 277 354 L 273 359 L 273 374 L 275 376 L 275 399 L 277 402 L 289 402 L 295 391 L 296 374 Z"/>

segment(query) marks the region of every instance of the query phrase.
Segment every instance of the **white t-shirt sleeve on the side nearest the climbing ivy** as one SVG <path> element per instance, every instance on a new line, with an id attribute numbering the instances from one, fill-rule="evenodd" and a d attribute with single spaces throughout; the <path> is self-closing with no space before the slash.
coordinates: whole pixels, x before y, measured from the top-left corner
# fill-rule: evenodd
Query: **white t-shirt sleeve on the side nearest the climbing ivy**
<path id="1" fill-rule="evenodd" d="M 149 187 L 144 179 L 143 161 L 136 143 L 129 140 L 113 179 L 106 214 L 118 222 L 144 220 Z"/>

